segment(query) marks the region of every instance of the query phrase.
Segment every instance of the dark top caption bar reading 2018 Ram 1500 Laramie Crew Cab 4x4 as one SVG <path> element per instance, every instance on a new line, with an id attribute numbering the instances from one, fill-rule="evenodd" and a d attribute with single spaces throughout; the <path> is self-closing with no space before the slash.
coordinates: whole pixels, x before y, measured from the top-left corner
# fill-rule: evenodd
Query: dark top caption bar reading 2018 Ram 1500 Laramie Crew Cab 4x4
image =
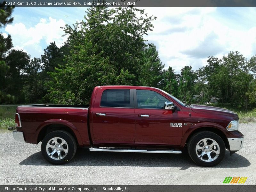
<path id="1" fill-rule="evenodd" d="M 0 0 L 15 7 L 256 7 L 255 0 Z"/>

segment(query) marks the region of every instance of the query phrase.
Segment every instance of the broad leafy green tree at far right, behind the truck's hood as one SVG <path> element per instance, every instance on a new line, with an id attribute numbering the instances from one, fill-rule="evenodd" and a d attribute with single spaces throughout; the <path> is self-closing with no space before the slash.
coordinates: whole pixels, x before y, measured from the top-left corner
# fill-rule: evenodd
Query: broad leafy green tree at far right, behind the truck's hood
<path id="1" fill-rule="evenodd" d="M 222 59 L 209 57 L 208 65 L 201 68 L 209 93 L 220 98 L 222 103 L 242 107 L 246 101 L 245 92 L 252 81 L 251 66 L 239 52 L 230 52 Z"/>

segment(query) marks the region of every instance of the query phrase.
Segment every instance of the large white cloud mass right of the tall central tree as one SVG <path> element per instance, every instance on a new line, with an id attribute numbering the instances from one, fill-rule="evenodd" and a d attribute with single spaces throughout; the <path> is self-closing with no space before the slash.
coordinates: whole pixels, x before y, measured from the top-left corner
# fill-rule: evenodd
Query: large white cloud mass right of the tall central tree
<path id="1" fill-rule="evenodd" d="M 239 51 L 245 58 L 252 57 L 256 43 L 256 10 L 226 9 L 233 15 L 225 15 L 224 9 L 214 7 L 145 8 L 145 12 L 157 17 L 153 31 L 148 32 L 145 39 L 156 44 L 165 68 L 171 66 L 178 73 L 186 65 L 196 70 L 206 64 L 208 56 L 222 57 L 230 51 Z M 251 17 L 245 14 L 247 11 Z M 238 23 L 232 18 L 234 15 L 245 17 L 246 22 Z"/>

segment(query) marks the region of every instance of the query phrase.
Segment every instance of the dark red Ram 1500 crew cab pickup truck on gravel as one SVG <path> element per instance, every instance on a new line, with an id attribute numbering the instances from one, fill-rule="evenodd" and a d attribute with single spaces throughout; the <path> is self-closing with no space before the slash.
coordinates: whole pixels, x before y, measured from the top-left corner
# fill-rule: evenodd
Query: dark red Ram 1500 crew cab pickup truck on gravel
<path id="1" fill-rule="evenodd" d="M 38 144 L 52 164 L 70 161 L 77 146 L 90 151 L 174 153 L 188 150 L 201 166 L 214 166 L 243 147 L 236 113 L 184 104 L 153 87 L 97 86 L 90 105 L 17 107 L 15 140 Z"/>

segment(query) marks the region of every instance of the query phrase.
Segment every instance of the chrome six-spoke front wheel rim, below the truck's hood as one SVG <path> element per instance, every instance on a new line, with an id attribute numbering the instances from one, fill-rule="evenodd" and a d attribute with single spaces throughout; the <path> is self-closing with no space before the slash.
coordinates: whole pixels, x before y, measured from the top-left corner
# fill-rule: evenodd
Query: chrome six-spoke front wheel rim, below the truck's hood
<path id="1" fill-rule="evenodd" d="M 215 140 L 204 138 L 196 144 L 196 155 L 204 162 L 212 162 L 220 155 L 220 146 Z"/>

